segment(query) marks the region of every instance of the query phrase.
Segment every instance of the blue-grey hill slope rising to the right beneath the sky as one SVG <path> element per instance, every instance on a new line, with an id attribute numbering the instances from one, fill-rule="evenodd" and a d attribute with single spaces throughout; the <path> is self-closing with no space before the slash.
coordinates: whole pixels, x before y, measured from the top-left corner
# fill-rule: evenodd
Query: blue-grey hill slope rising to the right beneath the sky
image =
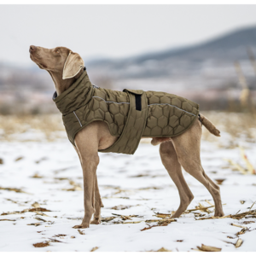
<path id="1" fill-rule="evenodd" d="M 232 63 L 247 59 L 247 48 L 256 52 L 256 26 L 237 29 L 202 44 L 166 49 L 119 60 L 90 61 L 90 70 L 116 78 L 165 77 L 172 69 L 195 70 L 204 61 Z"/>

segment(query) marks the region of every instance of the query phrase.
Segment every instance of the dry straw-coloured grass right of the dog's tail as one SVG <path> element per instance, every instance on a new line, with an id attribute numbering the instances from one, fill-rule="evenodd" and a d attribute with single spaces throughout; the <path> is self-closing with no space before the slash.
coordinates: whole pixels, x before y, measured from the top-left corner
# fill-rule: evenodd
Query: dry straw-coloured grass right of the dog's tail
<path id="1" fill-rule="evenodd" d="M 256 114 L 254 112 L 230 113 L 230 112 L 205 112 L 207 119 L 210 119 L 222 137 L 214 137 L 203 128 L 202 138 L 204 140 L 218 144 L 219 148 L 234 148 L 240 151 L 241 158 L 237 160 L 224 159 L 229 162 L 233 171 L 239 171 L 241 174 L 256 174 L 256 167 L 253 166 L 252 157 L 247 158 L 250 150 L 248 143 L 256 143 Z M 242 142 L 248 142 L 247 147 L 241 146 Z M 243 163 L 243 165 L 240 164 Z M 218 184 L 224 180 L 216 180 Z"/>

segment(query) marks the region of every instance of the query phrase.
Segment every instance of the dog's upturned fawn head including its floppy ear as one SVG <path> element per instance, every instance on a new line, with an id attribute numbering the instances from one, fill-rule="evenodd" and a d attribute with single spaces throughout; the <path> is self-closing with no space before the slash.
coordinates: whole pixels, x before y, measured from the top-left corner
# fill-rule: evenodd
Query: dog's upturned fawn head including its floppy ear
<path id="1" fill-rule="evenodd" d="M 84 67 L 81 56 L 66 47 L 47 49 L 31 45 L 29 53 L 30 58 L 38 67 L 49 73 L 61 73 L 62 79 L 75 77 Z"/>

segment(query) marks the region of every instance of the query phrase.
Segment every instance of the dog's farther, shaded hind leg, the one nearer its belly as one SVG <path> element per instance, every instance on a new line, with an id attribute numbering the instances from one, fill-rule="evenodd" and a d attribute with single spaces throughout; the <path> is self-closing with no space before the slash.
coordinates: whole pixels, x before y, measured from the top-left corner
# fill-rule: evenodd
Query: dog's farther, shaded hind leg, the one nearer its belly
<path id="1" fill-rule="evenodd" d="M 180 205 L 171 217 L 178 218 L 187 209 L 189 203 L 193 200 L 194 195 L 190 191 L 189 186 L 183 177 L 181 165 L 177 160 L 177 154 L 172 141 L 160 144 L 160 157 L 167 172 L 177 186 L 178 194 L 180 196 Z"/>

